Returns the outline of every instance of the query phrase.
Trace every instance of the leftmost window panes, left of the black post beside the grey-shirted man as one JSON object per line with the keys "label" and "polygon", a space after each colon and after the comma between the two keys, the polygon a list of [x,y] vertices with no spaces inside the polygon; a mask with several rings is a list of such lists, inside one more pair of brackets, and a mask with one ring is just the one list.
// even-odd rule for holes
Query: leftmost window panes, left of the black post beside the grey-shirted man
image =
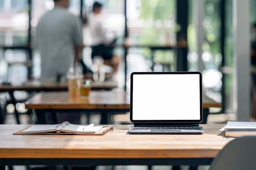
{"label": "leftmost window panes, left of the black post beside the grey-shirted man", "polygon": [[[28,2],[27,0],[0,0],[0,47],[19,47],[28,44]],[[24,50],[1,49],[0,82],[27,81],[27,53]],[[15,72],[18,71],[18,72]]]}

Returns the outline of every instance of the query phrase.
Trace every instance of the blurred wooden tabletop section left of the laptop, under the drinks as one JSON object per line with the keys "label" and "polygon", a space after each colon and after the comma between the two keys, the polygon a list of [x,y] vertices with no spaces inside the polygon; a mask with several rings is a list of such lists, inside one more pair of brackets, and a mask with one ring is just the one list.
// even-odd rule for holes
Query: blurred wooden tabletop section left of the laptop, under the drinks
{"label": "blurred wooden tabletop section left of the laptop, under the drinks", "polygon": [[130,109],[125,92],[90,91],[88,99],[70,97],[68,92],[42,92],[25,102],[27,109]]}

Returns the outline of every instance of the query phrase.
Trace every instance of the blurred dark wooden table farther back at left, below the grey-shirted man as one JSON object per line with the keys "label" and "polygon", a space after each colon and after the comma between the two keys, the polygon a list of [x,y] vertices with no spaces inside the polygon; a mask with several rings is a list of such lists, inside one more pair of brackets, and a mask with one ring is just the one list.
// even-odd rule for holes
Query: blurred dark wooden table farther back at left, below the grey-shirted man
{"label": "blurred dark wooden table farther back at left, below the grey-shirted man", "polygon": [[[112,90],[117,87],[117,82],[115,81],[105,81],[105,82],[92,82],[92,90]],[[39,91],[67,91],[67,83],[56,84],[54,82],[46,82],[44,84],[22,84],[22,85],[11,85],[11,84],[0,84],[0,92],[9,92],[11,95],[11,103],[16,104],[16,99],[13,95],[14,91],[28,91],[39,92]],[[15,109],[16,121],[20,124],[18,119],[18,111]],[[0,109],[0,124],[3,124],[4,114],[1,113]]]}

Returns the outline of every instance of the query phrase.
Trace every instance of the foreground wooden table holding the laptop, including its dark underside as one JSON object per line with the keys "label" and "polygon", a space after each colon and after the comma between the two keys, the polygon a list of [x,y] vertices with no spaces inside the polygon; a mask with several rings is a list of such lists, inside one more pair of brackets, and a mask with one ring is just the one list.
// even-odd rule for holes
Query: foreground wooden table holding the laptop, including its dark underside
{"label": "foreground wooden table holding the laptop, including its dark underside", "polygon": [[202,124],[202,135],[127,135],[113,125],[102,136],[12,135],[28,125],[0,125],[0,170],[12,165],[209,165],[234,138],[223,124]]}

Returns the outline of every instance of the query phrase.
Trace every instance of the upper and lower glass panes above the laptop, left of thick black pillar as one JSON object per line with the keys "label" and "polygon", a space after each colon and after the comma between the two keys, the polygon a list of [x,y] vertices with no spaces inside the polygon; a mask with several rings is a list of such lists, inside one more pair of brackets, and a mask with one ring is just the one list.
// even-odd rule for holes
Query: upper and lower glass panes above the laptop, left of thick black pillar
{"label": "upper and lower glass panes above the laptop, left of thick black pillar", "polygon": [[[127,3],[128,61],[132,71],[174,71],[177,25],[176,0],[129,0]],[[140,59],[141,58],[141,59]],[[142,60],[141,62],[139,62]],[[134,64],[130,64],[134,65]]]}

